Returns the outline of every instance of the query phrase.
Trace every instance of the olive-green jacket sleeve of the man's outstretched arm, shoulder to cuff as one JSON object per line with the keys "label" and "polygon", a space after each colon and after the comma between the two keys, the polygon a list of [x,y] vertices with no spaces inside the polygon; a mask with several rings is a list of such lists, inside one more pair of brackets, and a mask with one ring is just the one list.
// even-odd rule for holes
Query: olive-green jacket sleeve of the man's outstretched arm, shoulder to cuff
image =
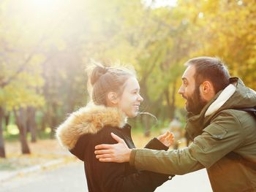
{"label": "olive-green jacket sleeve of the man's outstretched arm, shoulder to cuff", "polygon": [[239,120],[226,110],[219,112],[189,147],[169,151],[133,149],[129,163],[151,172],[186,174],[210,167],[243,140]]}

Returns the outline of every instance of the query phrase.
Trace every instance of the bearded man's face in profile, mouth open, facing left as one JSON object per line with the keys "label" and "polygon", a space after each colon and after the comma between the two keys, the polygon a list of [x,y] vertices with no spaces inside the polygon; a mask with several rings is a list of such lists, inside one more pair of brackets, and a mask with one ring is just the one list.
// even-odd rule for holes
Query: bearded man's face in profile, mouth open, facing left
{"label": "bearded man's face in profile, mouth open, facing left", "polygon": [[182,85],[178,93],[186,99],[185,107],[187,112],[194,115],[200,113],[207,101],[200,95],[200,85],[195,84],[195,66],[189,65],[182,76]]}

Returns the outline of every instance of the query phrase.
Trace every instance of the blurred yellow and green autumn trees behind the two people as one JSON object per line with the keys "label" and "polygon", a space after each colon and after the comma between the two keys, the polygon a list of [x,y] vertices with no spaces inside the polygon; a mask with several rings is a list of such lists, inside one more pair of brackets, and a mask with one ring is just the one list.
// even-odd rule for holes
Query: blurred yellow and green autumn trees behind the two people
{"label": "blurred yellow and green autumn trees behind the two people", "polygon": [[[0,2],[0,156],[4,140],[54,138],[69,112],[86,105],[86,64],[130,64],[142,111],[165,126],[183,118],[177,91],[184,62],[222,58],[256,89],[255,1],[3,0]],[[142,122],[142,124],[141,124]],[[154,120],[132,120],[149,135]]]}

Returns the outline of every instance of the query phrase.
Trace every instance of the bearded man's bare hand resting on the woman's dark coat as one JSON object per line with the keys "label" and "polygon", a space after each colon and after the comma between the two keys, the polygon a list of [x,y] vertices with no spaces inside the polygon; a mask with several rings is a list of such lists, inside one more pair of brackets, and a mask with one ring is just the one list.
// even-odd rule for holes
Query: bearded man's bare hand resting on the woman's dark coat
{"label": "bearded man's bare hand resting on the woman's dark coat", "polygon": [[96,150],[94,151],[94,153],[96,154],[96,158],[98,158],[99,161],[102,162],[129,162],[129,155],[131,153],[131,149],[129,149],[124,140],[118,137],[116,134],[111,133],[111,136],[118,143],[113,145],[102,144],[95,146]]}

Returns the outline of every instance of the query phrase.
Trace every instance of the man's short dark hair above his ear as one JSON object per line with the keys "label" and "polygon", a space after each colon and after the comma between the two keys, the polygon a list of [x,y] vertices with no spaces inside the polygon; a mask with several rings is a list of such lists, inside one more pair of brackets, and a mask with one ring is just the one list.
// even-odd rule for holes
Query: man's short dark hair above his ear
{"label": "man's short dark hair above his ear", "polygon": [[230,74],[227,66],[219,58],[192,58],[185,65],[195,66],[195,85],[199,86],[204,81],[209,80],[214,86],[215,93],[218,93],[230,83]]}

